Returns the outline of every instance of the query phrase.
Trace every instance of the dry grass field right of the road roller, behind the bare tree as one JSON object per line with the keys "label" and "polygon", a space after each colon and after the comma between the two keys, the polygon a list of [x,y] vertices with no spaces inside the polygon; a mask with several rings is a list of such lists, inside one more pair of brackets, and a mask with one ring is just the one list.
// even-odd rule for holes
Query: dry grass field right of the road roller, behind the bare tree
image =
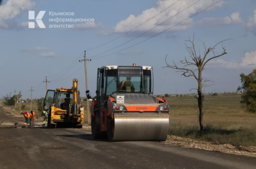
{"label": "dry grass field right of the road roller, behind the bare tree", "polygon": [[219,144],[256,146],[256,115],[245,114],[241,95],[206,96],[206,110],[200,132],[197,100],[193,97],[167,97],[170,104],[170,134]]}

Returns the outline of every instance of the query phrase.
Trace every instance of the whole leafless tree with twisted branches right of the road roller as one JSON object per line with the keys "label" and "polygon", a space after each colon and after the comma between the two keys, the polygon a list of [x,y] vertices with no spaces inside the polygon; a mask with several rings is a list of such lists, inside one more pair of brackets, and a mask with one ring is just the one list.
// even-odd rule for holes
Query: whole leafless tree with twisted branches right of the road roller
{"label": "whole leafless tree with twisted branches right of the road roller", "polygon": [[[169,65],[166,61],[167,55],[165,57],[165,63],[166,63],[167,66],[165,66],[164,68],[178,69],[176,72],[182,72],[182,75],[185,76],[185,77],[193,76],[198,82],[198,87],[196,89],[197,90],[197,95],[194,95],[194,97],[198,101],[198,108],[199,108],[198,121],[199,121],[199,124],[200,124],[200,130],[204,130],[204,126],[203,126],[204,94],[203,94],[202,88],[209,86],[209,85],[206,84],[206,82],[213,82],[211,80],[207,80],[207,79],[202,78],[202,71],[204,70],[206,63],[209,62],[211,59],[218,58],[220,56],[223,56],[223,55],[227,54],[226,49],[225,49],[226,46],[223,46],[223,42],[227,41],[227,40],[229,40],[229,39],[225,39],[223,41],[218,42],[212,48],[211,47],[206,48],[205,43],[202,42],[205,51],[204,51],[203,57],[201,57],[199,47],[198,47],[199,56],[197,54],[196,46],[195,46],[195,43],[194,43],[194,35],[193,35],[193,40],[192,41],[190,40],[190,37],[189,37],[188,40],[186,40],[186,42],[188,42],[191,46],[188,46],[186,44],[186,50],[190,54],[190,58],[192,59],[192,61],[188,61],[187,58],[185,57],[185,60],[180,61],[184,65],[182,68],[178,68],[174,61],[173,61],[173,64],[174,64],[173,66]],[[215,52],[214,52],[214,49],[219,44],[221,44],[223,52],[219,55],[216,55]],[[206,57],[210,52],[213,53],[213,56],[211,58],[207,59]],[[192,66],[194,66],[195,69],[191,68]],[[196,73],[198,73],[198,75],[196,75]]]}

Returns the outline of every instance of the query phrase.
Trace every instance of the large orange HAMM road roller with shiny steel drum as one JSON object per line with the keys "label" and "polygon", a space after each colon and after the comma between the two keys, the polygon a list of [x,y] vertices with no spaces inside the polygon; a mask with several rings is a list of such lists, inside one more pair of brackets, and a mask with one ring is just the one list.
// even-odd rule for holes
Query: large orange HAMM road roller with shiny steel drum
{"label": "large orange HAMM road roller with shiny steel drum", "polygon": [[[153,95],[151,66],[98,68],[96,98],[91,104],[93,139],[109,141],[165,141],[170,106]],[[91,93],[86,91],[87,99]]]}

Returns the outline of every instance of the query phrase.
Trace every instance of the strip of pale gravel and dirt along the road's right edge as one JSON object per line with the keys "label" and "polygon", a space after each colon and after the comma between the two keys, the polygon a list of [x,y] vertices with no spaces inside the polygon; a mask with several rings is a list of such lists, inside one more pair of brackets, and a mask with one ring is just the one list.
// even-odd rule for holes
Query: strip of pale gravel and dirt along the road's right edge
{"label": "strip of pale gravel and dirt along the road's right edge", "polygon": [[213,142],[197,141],[190,138],[182,138],[174,135],[168,135],[167,140],[163,142],[163,144],[256,157],[255,146],[245,147],[233,146],[230,144],[217,144]]}

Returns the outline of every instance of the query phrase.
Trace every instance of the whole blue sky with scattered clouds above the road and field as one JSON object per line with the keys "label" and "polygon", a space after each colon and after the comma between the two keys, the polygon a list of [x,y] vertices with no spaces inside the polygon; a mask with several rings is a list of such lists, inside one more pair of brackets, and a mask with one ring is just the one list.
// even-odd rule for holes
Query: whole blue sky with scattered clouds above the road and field
{"label": "whole blue sky with scattered clouds above the road and field", "polygon": [[[0,6],[0,96],[22,90],[22,99],[30,98],[29,90],[33,86],[33,98],[45,96],[45,76],[50,80],[48,89],[71,87],[72,79],[79,80],[81,95],[85,96],[85,72],[81,68],[83,51],[104,44],[121,34],[144,23],[160,13],[177,0],[3,0]],[[201,0],[187,10],[173,17],[152,31],[134,39],[104,56],[131,45],[137,44],[197,13],[218,0]],[[99,48],[86,52],[92,57],[123,44],[148,31],[196,0],[180,0],[154,19]],[[46,28],[28,28],[28,11],[46,11],[42,18]],[[73,16],[51,16],[53,12],[74,12]],[[36,17],[36,16],[35,16]],[[49,28],[49,18],[94,18],[94,22],[68,22],[74,28]],[[35,21],[35,20],[34,20]],[[214,82],[205,92],[235,92],[240,85],[239,74],[249,73],[256,66],[256,2],[253,0],[223,0],[209,10],[179,24],[141,44],[122,52],[88,62],[88,87],[95,95],[96,71],[106,65],[137,65],[154,68],[154,94],[191,93],[197,86],[193,77],[181,76],[174,69],[162,68],[165,55],[171,64],[179,64],[185,56],[185,40],[195,33],[196,45],[203,53],[200,41],[210,47],[224,42],[227,55],[209,62],[203,71],[203,77]],[[222,53],[221,46],[216,54]],[[96,56],[94,58],[97,58]],[[212,55],[209,55],[210,57]],[[78,58],[78,59],[77,59]],[[71,63],[75,62],[70,66]],[[68,67],[69,66],[69,67]],[[71,68],[71,69],[70,69]],[[81,68],[81,69],[79,69]],[[69,70],[70,69],[70,70]],[[78,70],[79,69],[79,70]],[[69,70],[69,71],[68,71]],[[66,73],[65,73],[66,72]],[[76,73],[74,73],[76,72]],[[57,75],[56,75],[57,74]],[[54,76],[55,75],[55,76]],[[54,82],[55,81],[55,82]],[[195,92],[195,91],[194,91]],[[194,93],[193,92],[193,93]]]}

